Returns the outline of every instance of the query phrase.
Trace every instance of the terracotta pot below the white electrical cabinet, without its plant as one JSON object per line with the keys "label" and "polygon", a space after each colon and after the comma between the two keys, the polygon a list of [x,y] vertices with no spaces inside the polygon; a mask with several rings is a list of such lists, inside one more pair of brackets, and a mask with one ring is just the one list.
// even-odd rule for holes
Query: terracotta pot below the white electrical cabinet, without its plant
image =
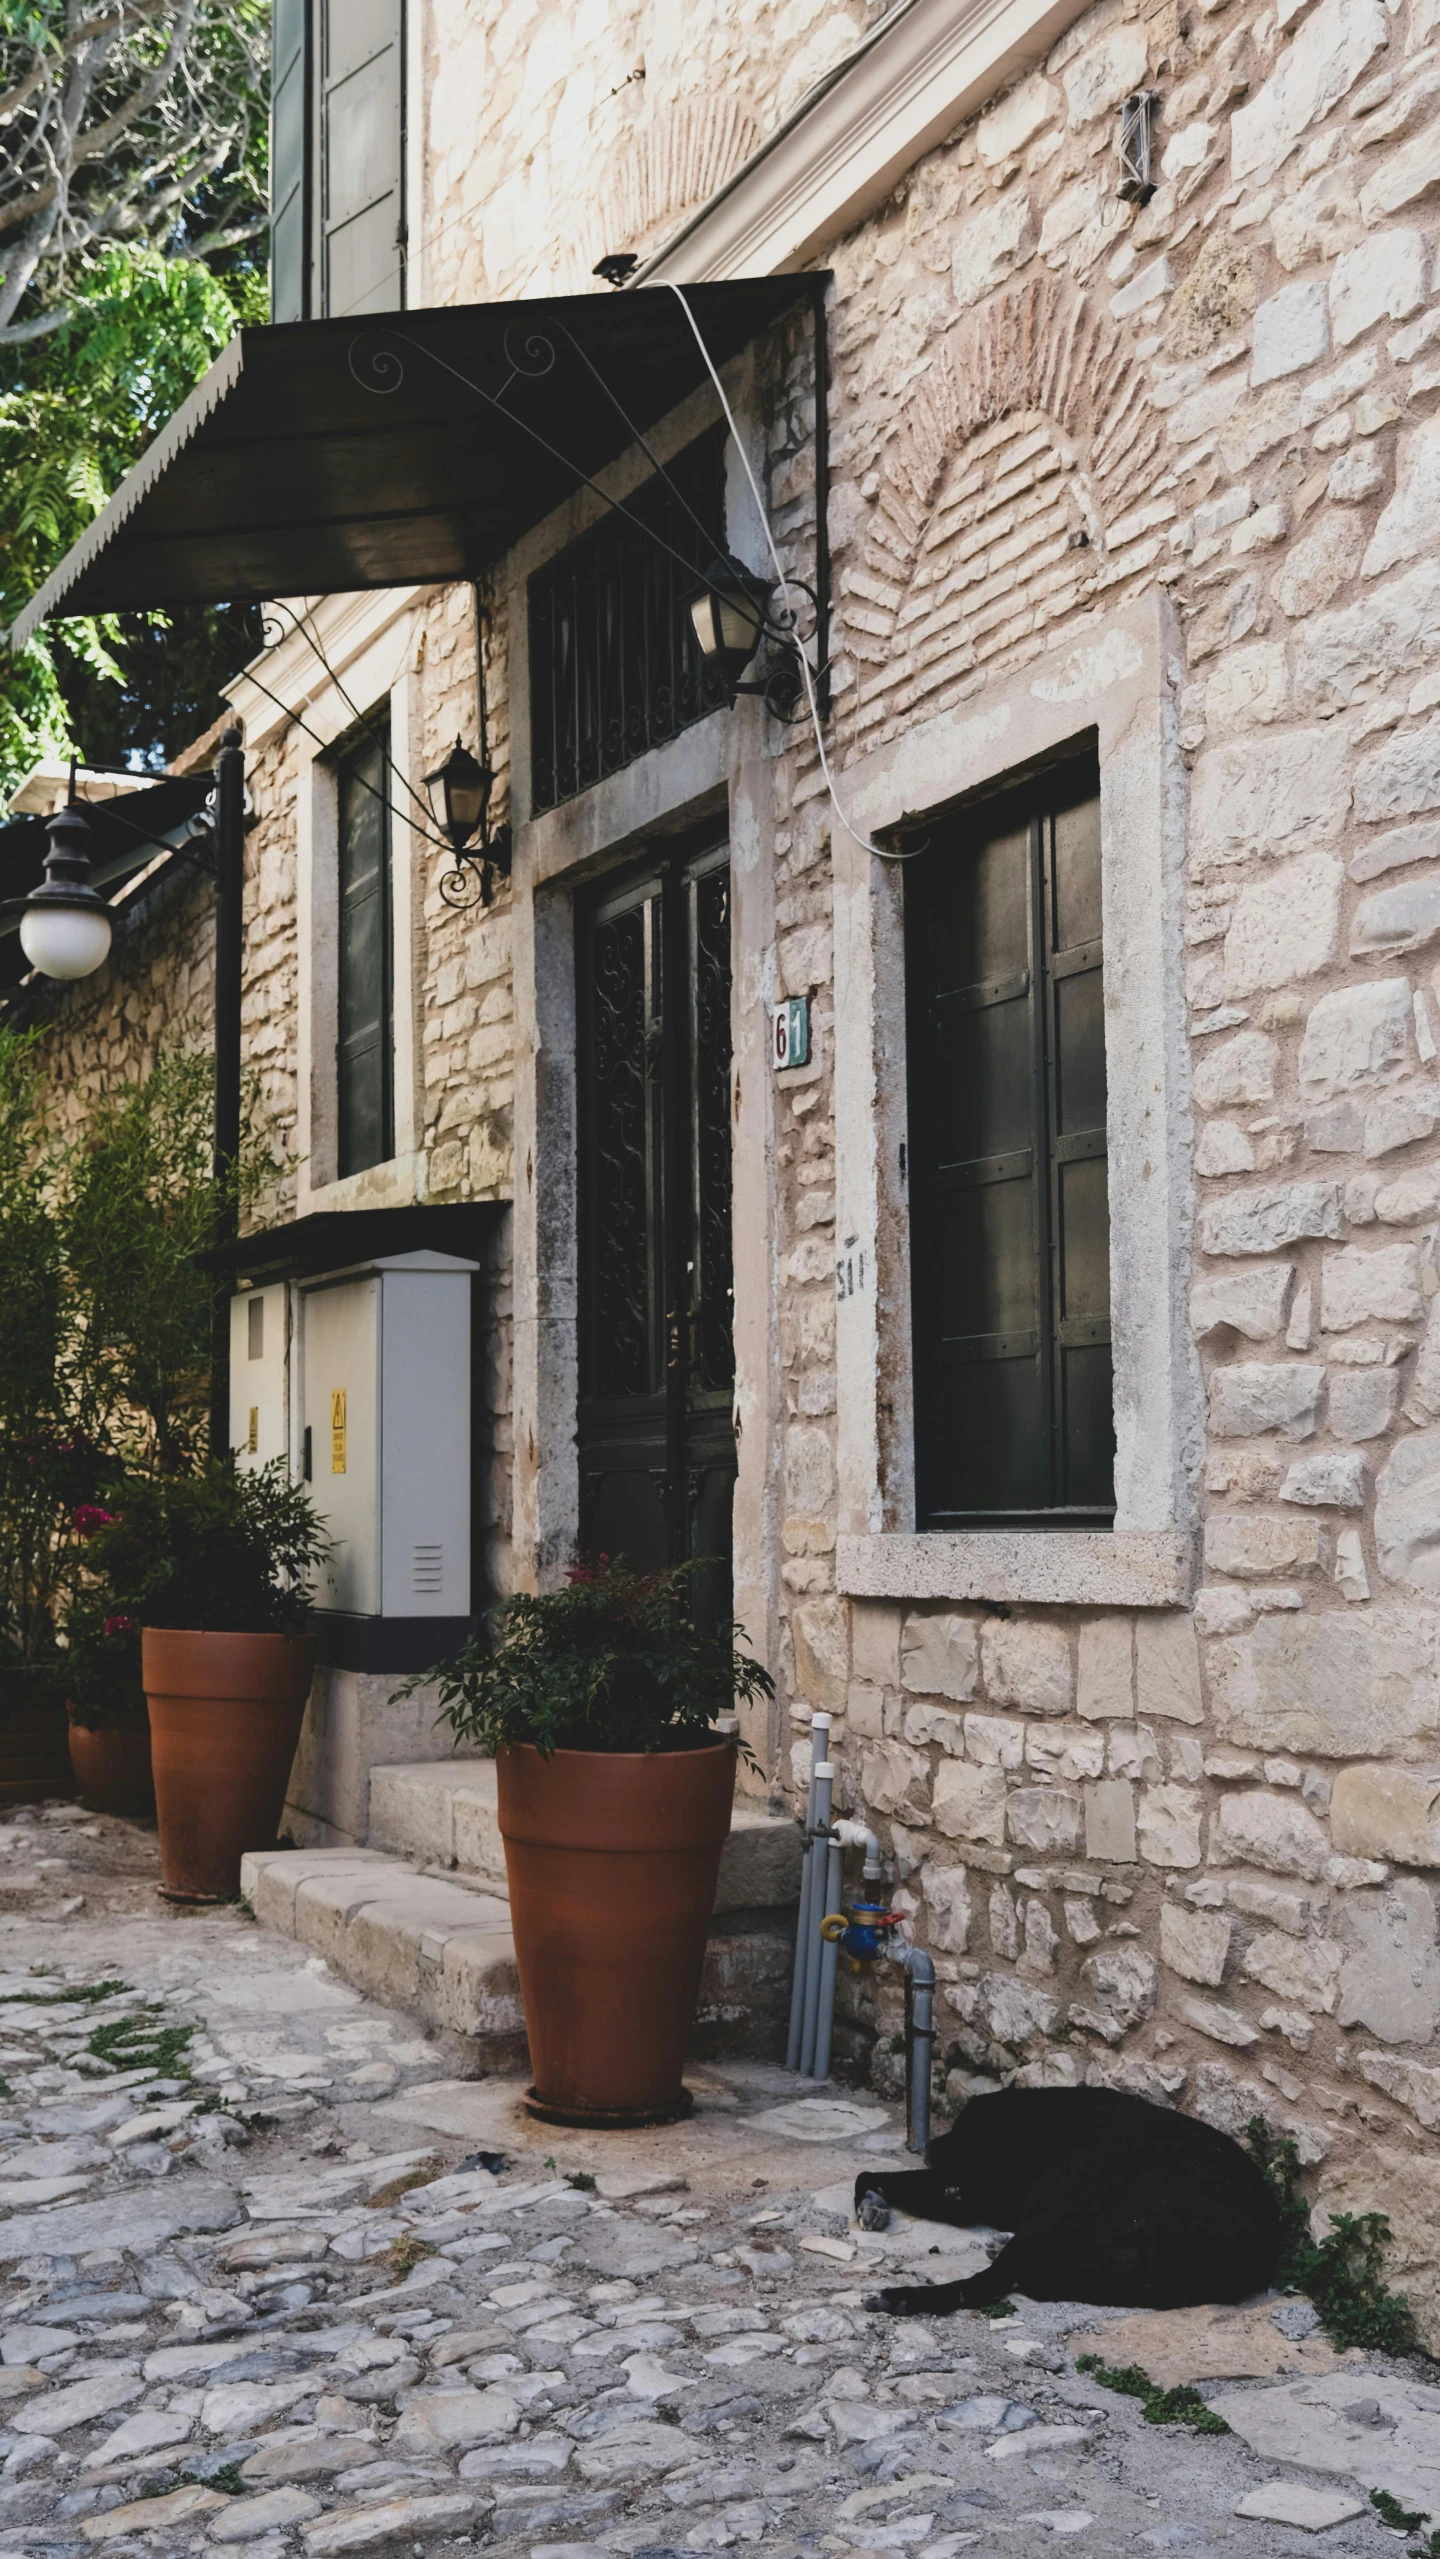
{"label": "terracotta pot below the white electrical cabinet, without its plant", "polygon": [[233,1901],[248,1848],[274,1848],[315,1671],[309,1635],[141,1630],[169,1901]]}

